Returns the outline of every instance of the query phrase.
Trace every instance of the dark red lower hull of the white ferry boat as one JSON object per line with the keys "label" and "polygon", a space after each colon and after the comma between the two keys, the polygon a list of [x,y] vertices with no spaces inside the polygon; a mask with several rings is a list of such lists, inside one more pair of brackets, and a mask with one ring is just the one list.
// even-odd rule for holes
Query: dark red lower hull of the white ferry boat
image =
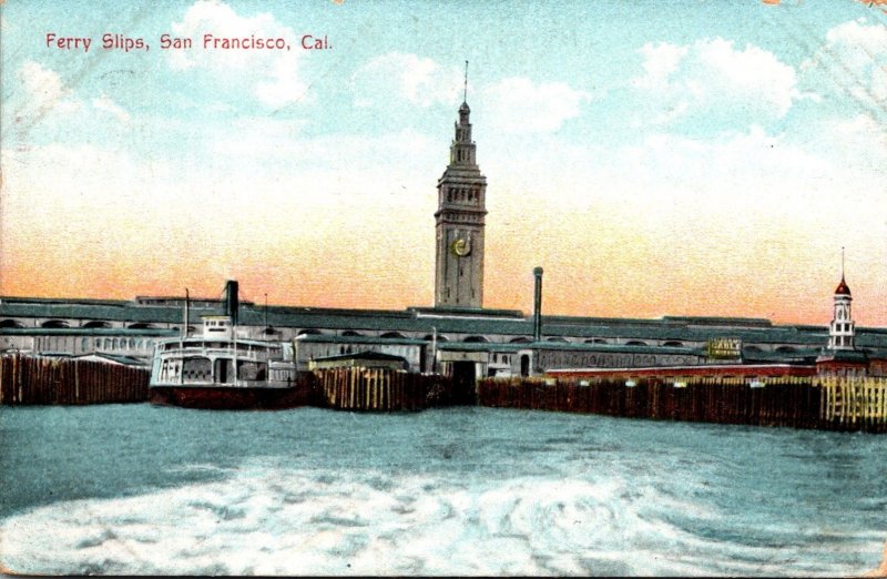
{"label": "dark red lower hull of the white ferry boat", "polygon": [[213,410],[277,410],[312,403],[308,385],[283,388],[235,388],[231,386],[152,386],[149,402],[183,408]]}

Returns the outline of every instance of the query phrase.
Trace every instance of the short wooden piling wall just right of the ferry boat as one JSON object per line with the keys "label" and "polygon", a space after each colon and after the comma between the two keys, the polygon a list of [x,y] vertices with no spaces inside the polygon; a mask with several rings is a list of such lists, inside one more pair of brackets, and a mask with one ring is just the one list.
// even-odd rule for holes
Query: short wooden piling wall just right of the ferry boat
{"label": "short wooden piling wall just right of the ferry boat", "polygon": [[452,380],[443,376],[359,367],[315,370],[314,375],[320,388],[320,404],[328,408],[421,410],[453,402]]}

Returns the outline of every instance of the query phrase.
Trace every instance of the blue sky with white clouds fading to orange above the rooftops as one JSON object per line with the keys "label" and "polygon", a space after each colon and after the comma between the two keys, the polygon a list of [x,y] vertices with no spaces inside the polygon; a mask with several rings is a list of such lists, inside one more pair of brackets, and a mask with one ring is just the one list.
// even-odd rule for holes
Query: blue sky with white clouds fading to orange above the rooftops
{"label": "blue sky with white clouds fading to orange above the rooftops", "polygon": [[887,326],[881,4],[7,0],[0,295],[431,305],[468,60],[486,307]]}

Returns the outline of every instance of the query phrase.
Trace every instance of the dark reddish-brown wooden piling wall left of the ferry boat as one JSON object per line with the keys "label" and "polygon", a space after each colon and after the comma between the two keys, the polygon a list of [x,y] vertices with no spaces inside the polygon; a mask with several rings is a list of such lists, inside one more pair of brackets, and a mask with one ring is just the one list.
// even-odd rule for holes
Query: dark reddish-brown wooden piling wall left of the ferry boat
{"label": "dark reddish-brown wooden piling wall left of the ferry boat", "polygon": [[0,404],[79,405],[147,400],[150,372],[118,364],[0,356]]}

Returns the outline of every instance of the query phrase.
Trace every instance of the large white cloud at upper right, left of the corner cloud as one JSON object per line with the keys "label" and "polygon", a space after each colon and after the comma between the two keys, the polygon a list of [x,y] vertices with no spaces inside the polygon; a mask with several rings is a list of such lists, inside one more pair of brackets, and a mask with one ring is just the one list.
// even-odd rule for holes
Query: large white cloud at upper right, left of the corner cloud
{"label": "large white cloud at upper right, left of the corner cloud", "polygon": [[684,47],[646,43],[639,52],[644,74],[631,82],[643,102],[638,124],[744,131],[785,116],[801,96],[795,70],[752,44],[740,50],[715,38]]}

